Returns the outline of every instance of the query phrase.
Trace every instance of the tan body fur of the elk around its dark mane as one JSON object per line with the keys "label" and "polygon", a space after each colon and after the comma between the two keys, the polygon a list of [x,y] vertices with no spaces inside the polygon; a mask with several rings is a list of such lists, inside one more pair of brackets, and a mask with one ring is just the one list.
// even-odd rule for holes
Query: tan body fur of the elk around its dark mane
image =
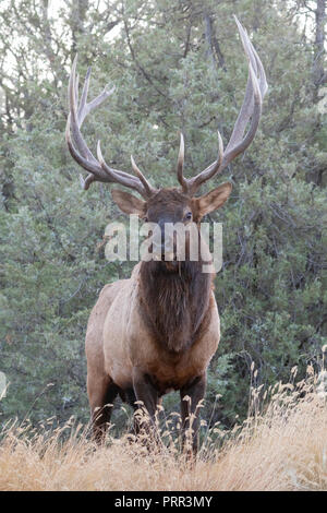
{"label": "tan body fur of the elk around its dark mane", "polygon": [[180,390],[206,372],[218,347],[220,324],[214,293],[209,324],[186,350],[171,354],[149,335],[140,313],[141,265],[134,267],[130,279],[106,285],[90,313],[85,345],[92,409],[104,405],[101,383],[106,386],[112,381],[121,390],[133,387],[135,368],[152,377],[160,395]]}

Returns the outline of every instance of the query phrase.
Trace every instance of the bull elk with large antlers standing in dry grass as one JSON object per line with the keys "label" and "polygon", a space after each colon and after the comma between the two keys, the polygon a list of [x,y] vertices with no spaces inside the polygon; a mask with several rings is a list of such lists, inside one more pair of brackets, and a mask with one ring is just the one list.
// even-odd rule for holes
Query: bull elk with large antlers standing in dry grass
{"label": "bull elk with large antlers standing in dry grass", "polygon": [[[113,169],[104,159],[100,142],[97,144],[97,158],[93,155],[81,127],[88,112],[110,96],[112,90],[105,88],[87,103],[88,69],[78,102],[75,58],[69,82],[70,114],[65,139],[73,158],[88,171],[86,179],[82,179],[85,190],[93,181],[119,183],[135,190],[142,199],[121,190],[112,190],[112,199],[122,212],[157,223],[162,230],[166,223],[177,222],[184,225],[193,222],[199,227],[204,215],[227,201],[232,189],[229,182],[204,195],[195,193],[251,144],[267,91],[261,59],[246,31],[238,19],[235,22],[249,60],[243,105],[226,150],[218,132],[217,159],[192,178],[183,175],[184,139],[181,134],[177,167],[179,189],[154,188],[132,156],[134,176]],[[244,133],[249,122],[250,128]],[[134,410],[142,402],[149,418],[154,419],[160,397],[170,390],[178,390],[183,432],[190,428],[192,417],[192,443],[196,450],[197,407],[205,395],[207,368],[220,338],[213,291],[215,274],[203,273],[201,264],[201,260],[196,262],[187,258],[179,263],[166,261],[160,254],[156,261],[138,262],[129,279],[102,288],[86,333],[87,392],[96,437],[105,432],[118,394]]]}

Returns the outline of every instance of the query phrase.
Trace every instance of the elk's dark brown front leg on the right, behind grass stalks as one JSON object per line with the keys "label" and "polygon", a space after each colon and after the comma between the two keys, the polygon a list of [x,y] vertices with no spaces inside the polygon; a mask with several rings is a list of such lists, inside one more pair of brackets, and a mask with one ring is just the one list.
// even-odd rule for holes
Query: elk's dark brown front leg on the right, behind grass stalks
{"label": "elk's dark brown front leg on the right, behind grass stalks", "polygon": [[[195,378],[180,390],[183,446],[185,448],[186,442],[190,440],[194,453],[196,453],[198,446],[199,402],[204,398],[205,391],[206,374]],[[186,451],[189,452],[191,448],[186,448]]]}

